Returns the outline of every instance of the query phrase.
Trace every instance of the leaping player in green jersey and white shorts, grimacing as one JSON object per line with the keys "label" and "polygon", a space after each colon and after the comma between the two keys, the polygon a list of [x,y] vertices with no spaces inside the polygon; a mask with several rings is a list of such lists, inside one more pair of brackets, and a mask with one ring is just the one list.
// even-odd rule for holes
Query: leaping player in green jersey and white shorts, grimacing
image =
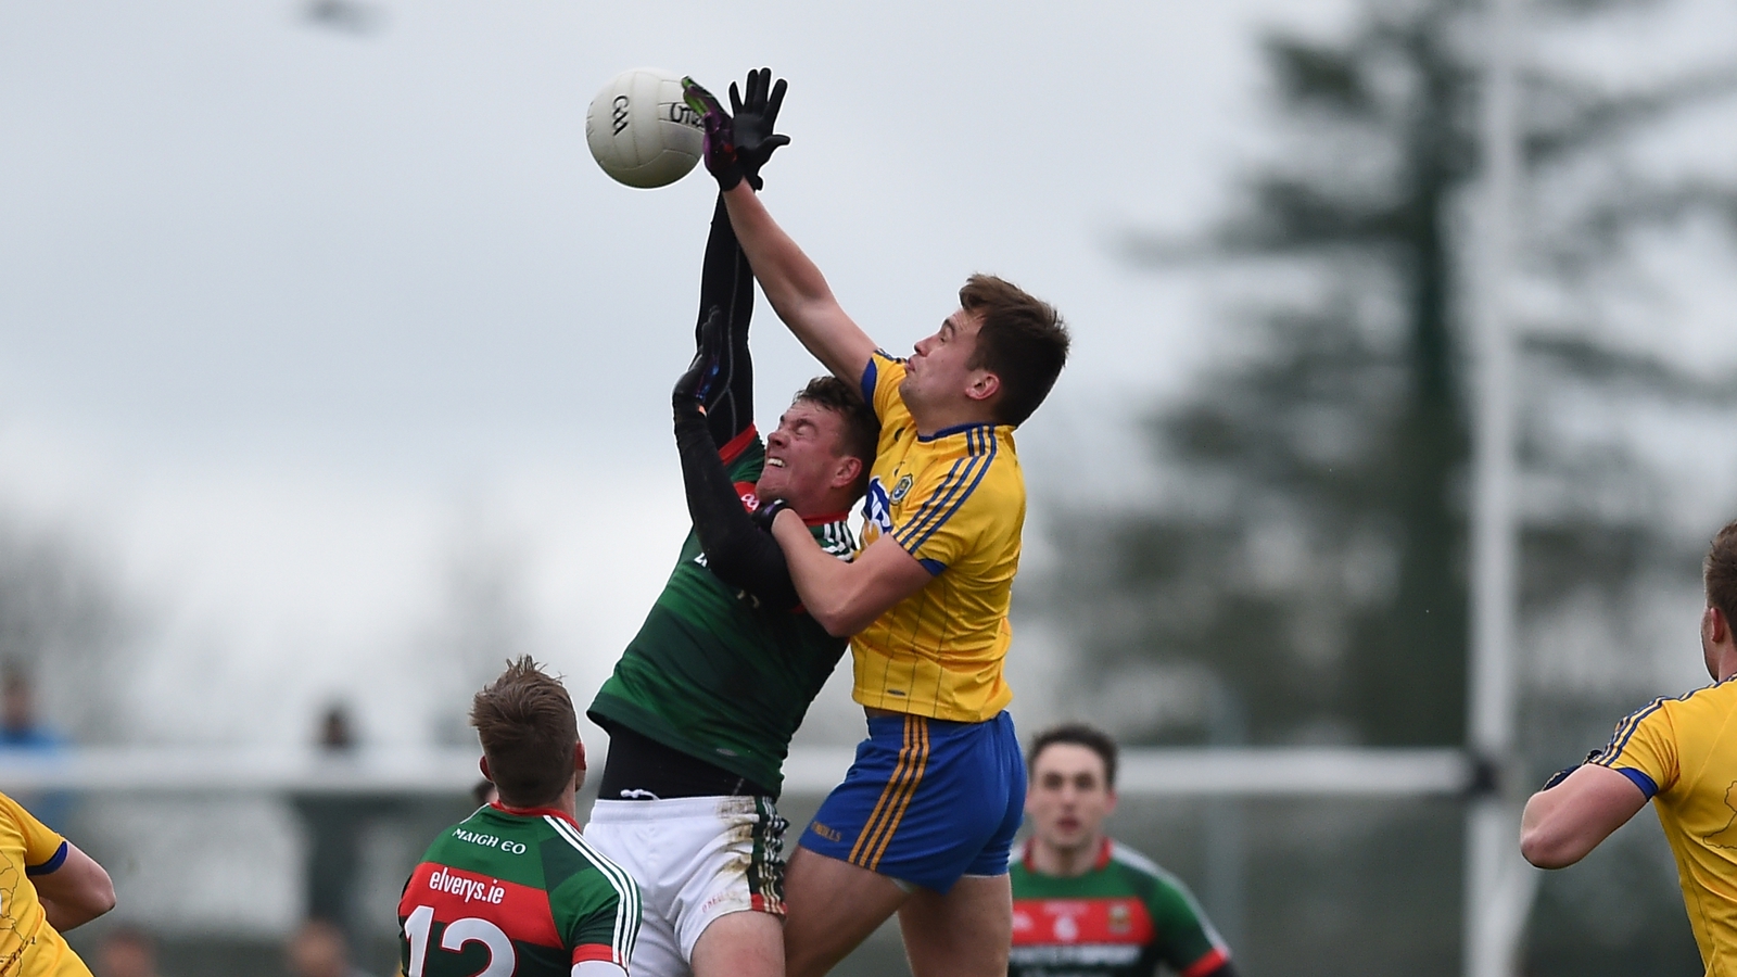
{"label": "leaping player in green jersey and white shorts, grimacing", "polygon": [[[736,113],[766,134],[783,96],[769,82],[749,75]],[[874,417],[849,384],[822,377],[761,443],[752,309],[754,276],[719,200],[698,351],[674,391],[693,530],[587,713],[610,732],[587,838],[644,894],[636,975],[783,975],[785,821],[773,805],[790,735],[844,655],[844,638],[802,612],[783,551],[750,513],[757,499],[782,499],[829,560],[848,558]]]}

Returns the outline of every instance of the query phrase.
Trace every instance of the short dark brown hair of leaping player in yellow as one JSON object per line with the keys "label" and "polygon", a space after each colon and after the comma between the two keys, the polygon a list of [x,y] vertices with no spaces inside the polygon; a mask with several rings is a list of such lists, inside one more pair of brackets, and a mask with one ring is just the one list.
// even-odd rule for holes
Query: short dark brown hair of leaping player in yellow
{"label": "short dark brown hair of leaping player in yellow", "polygon": [[959,306],[983,316],[976,351],[966,363],[1001,379],[995,421],[1023,424],[1056,386],[1068,362],[1068,327],[1049,302],[994,275],[973,275]]}

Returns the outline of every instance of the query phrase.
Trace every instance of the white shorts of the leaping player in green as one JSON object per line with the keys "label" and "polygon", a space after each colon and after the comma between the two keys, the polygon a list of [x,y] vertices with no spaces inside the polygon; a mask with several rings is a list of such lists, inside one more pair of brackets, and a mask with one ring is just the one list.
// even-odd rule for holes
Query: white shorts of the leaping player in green
{"label": "white shorts of the leaping player in green", "polygon": [[719,916],[783,916],[785,824],[768,798],[592,805],[585,840],[639,883],[634,977],[693,974],[693,944]]}

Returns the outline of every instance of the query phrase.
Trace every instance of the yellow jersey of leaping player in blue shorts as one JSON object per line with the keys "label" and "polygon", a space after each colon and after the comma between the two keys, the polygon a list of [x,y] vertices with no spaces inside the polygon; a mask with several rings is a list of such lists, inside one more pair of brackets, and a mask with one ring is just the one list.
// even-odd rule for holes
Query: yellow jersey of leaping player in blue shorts
{"label": "yellow jersey of leaping player in blue shorts", "polygon": [[935,575],[851,638],[863,706],[983,721],[1013,701],[1002,659],[1020,568],[1025,476],[1007,424],[919,436],[898,393],[903,360],[875,351],[863,396],[881,442],[863,499],[862,544],[891,535]]}

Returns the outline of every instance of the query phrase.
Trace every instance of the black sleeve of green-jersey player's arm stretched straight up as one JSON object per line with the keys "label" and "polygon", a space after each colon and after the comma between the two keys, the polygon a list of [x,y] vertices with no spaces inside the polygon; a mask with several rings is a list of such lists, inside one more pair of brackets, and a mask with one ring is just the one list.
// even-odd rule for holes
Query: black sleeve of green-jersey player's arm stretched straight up
{"label": "black sleeve of green-jersey player's arm stretched straight up", "polygon": [[705,421],[712,440],[719,445],[745,431],[754,422],[754,358],[749,356],[749,320],[754,316],[754,269],[736,243],[730,224],[724,196],[717,195],[712,210],[712,233],[705,238],[705,264],[700,269],[700,318],[695,322],[695,344],[700,327],[710,309],[724,313],[726,344],[721,370],[723,384],[707,398]]}

